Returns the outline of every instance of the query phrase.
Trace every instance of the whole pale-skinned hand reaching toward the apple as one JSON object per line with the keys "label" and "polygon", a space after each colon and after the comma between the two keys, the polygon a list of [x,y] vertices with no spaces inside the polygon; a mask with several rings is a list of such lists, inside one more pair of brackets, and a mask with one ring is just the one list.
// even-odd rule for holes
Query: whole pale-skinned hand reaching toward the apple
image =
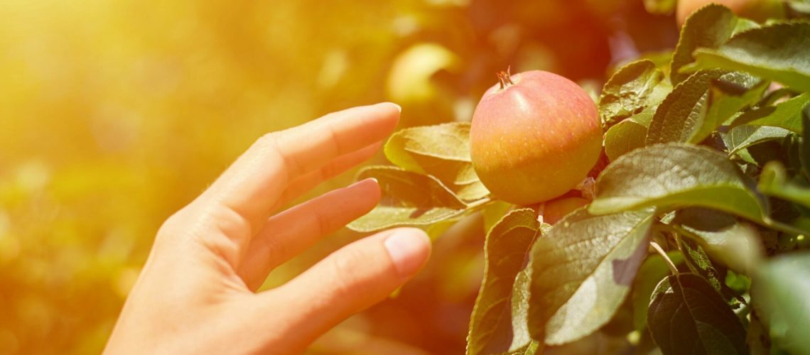
{"label": "whole pale-skinned hand reaching toward the apple", "polygon": [[273,268],[377,205],[377,182],[364,180],[278,212],[375,154],[399,111],[350,108],[255,142],[161,226],[104,353],[301,353],[418,273],[429,239],[399,228],[257,292]]}

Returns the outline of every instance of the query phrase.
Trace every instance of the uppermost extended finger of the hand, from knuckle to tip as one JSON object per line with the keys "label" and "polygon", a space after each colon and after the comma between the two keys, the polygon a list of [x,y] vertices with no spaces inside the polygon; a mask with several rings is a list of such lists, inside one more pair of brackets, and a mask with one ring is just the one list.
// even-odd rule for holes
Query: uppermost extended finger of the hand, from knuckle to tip
{"label": "uppermost extended finger of the hand, from knuckle to tip", "polygon": [[399,106],[390,103],[361,106],[266,134],[211,185],[206,192],[210,202],[232,210],[256,230],[289,182],[382,141],[397,125],[399,112]]}

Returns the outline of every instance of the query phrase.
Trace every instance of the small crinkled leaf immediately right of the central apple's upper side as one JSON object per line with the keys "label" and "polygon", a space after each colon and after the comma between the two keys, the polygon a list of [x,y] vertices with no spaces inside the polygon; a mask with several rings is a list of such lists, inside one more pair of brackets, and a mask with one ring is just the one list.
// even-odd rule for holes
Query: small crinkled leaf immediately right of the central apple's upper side
{"label": "small crinkled leaf immediately right of the central apple's upper side", "polygon": [[622,66],[605,83],[599,97],[599,115],[605,126],[616,125],[649,106],[658,106],[671,90],[662,82],[663,72],[652,61],[633,61]]}

